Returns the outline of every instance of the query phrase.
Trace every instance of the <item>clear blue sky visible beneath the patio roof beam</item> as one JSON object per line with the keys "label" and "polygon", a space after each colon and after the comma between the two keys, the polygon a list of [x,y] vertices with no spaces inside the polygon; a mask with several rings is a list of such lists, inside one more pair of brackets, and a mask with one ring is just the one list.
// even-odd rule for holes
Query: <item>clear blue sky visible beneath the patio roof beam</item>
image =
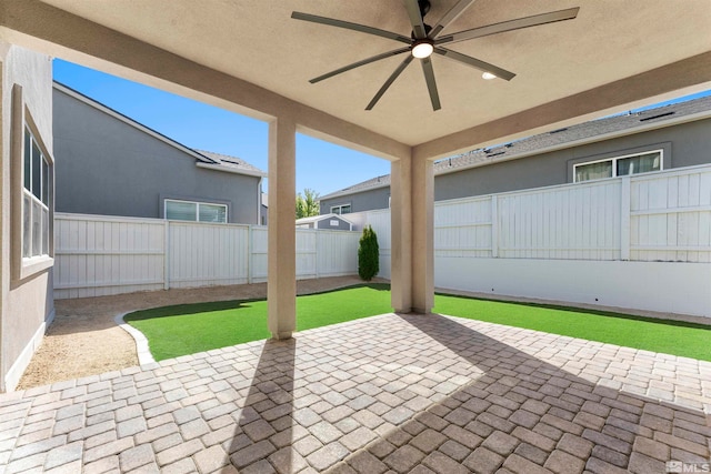
{"label": "clear blue sky visible beneath the patio roof beam", "polygon": [[[53,70],[54,80],[166,137],[192,149],[239,157],[267,171],[266,122],[59,59]],[[380,158],[297,137],[298,192],[310,188],[326,195],[389,173],[390,162]]]}

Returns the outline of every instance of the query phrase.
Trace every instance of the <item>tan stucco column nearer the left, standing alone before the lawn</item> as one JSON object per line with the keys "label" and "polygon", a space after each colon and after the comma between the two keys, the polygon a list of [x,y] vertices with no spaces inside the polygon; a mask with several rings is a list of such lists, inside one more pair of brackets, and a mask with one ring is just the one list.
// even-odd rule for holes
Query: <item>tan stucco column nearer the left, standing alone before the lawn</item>
{"label": "tan stucco column nearer the left, standing alone before the lawn", "polygon": [[297,128],[277,119],[269,124],[269,331],[289,339],[297,326]]}

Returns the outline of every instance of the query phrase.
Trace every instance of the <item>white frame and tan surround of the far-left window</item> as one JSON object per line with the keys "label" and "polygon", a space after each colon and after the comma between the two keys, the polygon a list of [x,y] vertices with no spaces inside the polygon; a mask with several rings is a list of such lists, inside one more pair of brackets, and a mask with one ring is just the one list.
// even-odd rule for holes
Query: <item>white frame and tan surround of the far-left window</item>
{"label": "white frame and tan surround of the far-left window", "polygon": [[[12,127],[10,132],[10,153],[11,153],[11,241],[12,241],[12,259],[11,259],[11,278],[12,280],[24,280],[39,272],[46,271],[54,265],[54,160],[48,152],[42,137],[38,132],[38,127],[32,119],[30,111],[24,105],[22,97],[22,87],[14,84],[12,88]],[[47,175],[40,177],[40,199],[38,199],[31,190],[24,188],[24,135],[26,130],[31,141],[37,148],[47,163]],[[31,167],[30,167],[31,170]],[[42,167],[40,164],[40,170]],[[46,180],[46,188],[43,181]],[[30,183],[32,183],[30,179]],[[47,192],[47,202],[43,202],[43,193]],[[26,196],[30,199],[30,209],[24,209]],[[47,211],[47,222],[40,218],[40,228],[42,236],[40,238],[41,253],[24,256],[24,242],[29,240],[32,245],[32,225],[30,225],[29,234],[24,232],[24,214],[30,212],[30,221],[32,222],[33,209],[36,204],[40,204],[42,210]],[[43,241],[47,240],[47,252],[44,252]]]}

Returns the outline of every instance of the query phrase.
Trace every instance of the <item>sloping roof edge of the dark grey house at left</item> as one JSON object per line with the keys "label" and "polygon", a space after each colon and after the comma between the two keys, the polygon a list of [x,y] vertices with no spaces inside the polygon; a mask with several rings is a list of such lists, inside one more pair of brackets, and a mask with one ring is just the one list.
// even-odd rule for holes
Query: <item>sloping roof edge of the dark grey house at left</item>
{"label": "sloping roof edge of the dark grey house at left", "polygon": [[266,177],[267,173],[261,171],[260,169],[258,169],[257,167],[253,167],[252,164],[249,164],[248,162],[246,162],[244,160],[240,159],[240,158],[236,158],[236,157],[228,157],[226,154],[219,154],[219,153],[212,153],[212,152],[207,152],[207,151],[198,151],[194,149],[191,149],[153,129],[151,129],[150,127],[147,127],[140,122],[137,122],[136,120],[131,119],[130,117],[127,117],[124,114],[122,114],[121,112],[111,109],[110,107],[94,100],[91,99],[88,95],[82,94],[81,92],[62,84],[61,82],[57,82],[53,81],[52,87],[54,90],[64,93],[66,95],[69,95],[76,100],[79,100],[83,103],[86,103],[89,107],[92,107],[108,115],[111,115],[112,118],[120,120],[121,122],[137,129],[140,130],[143,133],[147,133],[151,137],[153,137],[157,140],[162,141],[163,143],[167,143],[180,151],[182,151],[183,153],[187,153],[189,155],[191,155],[192,158],[194,158],[197,160],[197,165],[200,168],[208,168],[208,169],[212,169],[212,170],[218,170],[218,171],[227,171],[227,172],[233,172],[233,173],[239,173],[239,174],[247,174],[247,175],[253,175],[253,177]]}

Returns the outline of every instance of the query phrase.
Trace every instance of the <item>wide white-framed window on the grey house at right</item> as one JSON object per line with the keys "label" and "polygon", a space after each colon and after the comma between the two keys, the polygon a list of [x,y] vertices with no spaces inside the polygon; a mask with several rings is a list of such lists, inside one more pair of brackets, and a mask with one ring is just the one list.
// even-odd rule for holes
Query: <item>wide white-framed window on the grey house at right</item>
{"label": "wide white-framed window on the grey house at right", "polygon": [[663,151],[654,150],[639,154],[608,158],[575,164],[573,175],[575,182],[600,180],[603,178],[625,177],[628,174],[648,173],[663,169]]}

